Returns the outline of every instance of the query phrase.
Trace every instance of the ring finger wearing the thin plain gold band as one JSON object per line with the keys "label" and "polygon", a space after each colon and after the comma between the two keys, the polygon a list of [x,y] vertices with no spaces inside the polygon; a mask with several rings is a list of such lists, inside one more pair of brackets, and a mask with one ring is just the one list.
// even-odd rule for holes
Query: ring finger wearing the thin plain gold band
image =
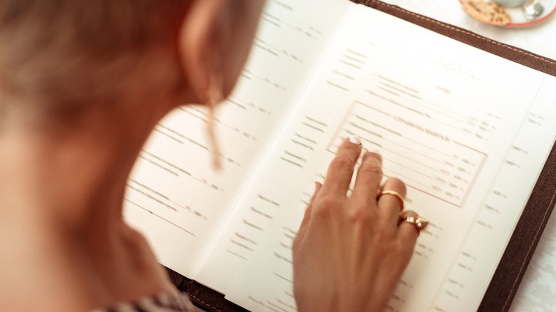
{"label": "ring finger wearing the thin plain gold band", "polygon": [[403,210],[403,202],[406,198],[406,184],[395,177],[384,182],[382,192],[378,196],[377,205],[379,212],[388,220],[396,224],[400,212]]}

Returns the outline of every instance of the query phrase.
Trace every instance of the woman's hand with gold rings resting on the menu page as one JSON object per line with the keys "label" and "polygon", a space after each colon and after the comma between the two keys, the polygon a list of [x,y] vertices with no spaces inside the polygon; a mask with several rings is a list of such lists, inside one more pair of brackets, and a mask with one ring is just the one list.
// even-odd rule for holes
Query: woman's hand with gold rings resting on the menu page
{"label": "woman's hand with gold rings resting on the menu page", "polygon": [[[315,192],[294,239],[294,296],[299,311],[383,311],[418,236],[398,218],[402,202],[380,192],[382,158],[365,152],[347,197],[361,144],[345,140]],[[388,179],[383,189],[406,195]],[[414,212],[404,215],[417,217]]]}

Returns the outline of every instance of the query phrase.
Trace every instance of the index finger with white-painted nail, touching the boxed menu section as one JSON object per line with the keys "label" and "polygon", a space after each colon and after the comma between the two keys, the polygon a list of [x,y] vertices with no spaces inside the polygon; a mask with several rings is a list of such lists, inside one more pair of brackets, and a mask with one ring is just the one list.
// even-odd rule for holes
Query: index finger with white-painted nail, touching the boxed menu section
{"label": "index finger with white-painted nail, touching the boxed menu section", "polygon": [[324,192],[346,196],[359,155],[361,155],[361,140],[358,137],[350,137],[342,142],[326,172]]}

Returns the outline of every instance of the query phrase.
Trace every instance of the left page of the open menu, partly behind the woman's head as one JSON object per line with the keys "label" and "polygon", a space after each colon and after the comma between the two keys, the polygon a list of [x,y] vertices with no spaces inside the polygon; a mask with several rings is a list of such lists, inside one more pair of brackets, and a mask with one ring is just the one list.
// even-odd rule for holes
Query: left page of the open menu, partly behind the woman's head
{"label": "left page of the open menu, partly behind the woman's head", "polygon": [[[341,1],[271,0],[242,77],[217,110],[223,168],[212,168],[207,113],[177,109],[155,129],[125,195],[125,219],[150,241],[161,264],[191,276],[334,36],[326,16]],[[329,2],[329,3],[328,3]],[[299,16],[314,19],[302,20]]]}

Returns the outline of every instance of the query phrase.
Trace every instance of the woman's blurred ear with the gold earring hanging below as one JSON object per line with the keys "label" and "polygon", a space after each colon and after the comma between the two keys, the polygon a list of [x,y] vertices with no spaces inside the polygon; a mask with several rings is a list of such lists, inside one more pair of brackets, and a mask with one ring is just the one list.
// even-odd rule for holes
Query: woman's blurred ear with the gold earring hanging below
{"label": "woman's blurred ear with the gold earring hanging below", "polygon": [[210,88],[211,76],[222,67],[222,1],[190,0],[192,4],[182,18],[177,38],[182,72],[192,95],[202,103]]}

